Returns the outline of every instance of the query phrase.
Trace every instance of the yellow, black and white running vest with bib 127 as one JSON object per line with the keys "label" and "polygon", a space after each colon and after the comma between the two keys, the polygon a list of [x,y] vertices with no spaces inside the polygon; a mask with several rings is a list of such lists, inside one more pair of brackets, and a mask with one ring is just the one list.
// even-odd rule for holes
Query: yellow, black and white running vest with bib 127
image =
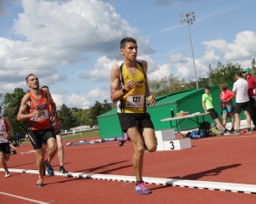
{"label": "yellow, black and white running vest with bib 127", "polygon": [[119,64],[122,86],[125,87],[126,83],[131,79],[136,82],[136,87],[130,89],[124,98],[118,101],[117,111],[119,113],[146,113],[148,111],[145,88],[146,75],[142,61],[137,59],[136,62],[137,73],[135,75],[131,75],[123,62]]}

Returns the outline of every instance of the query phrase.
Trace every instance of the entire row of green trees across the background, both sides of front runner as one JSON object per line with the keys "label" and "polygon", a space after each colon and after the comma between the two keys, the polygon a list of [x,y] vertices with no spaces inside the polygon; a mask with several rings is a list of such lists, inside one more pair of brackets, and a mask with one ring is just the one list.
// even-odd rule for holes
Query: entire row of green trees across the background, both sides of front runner
{"label": "entire row of green trees across the background, both sides of front runner", "polygon": [[[251,63],[251,72],[253,76],[256,75],[255,59]],[[207,85],[218,85],[224,82],[235,82],[236,71],[241,71],[241,65],[233,64],[231,62],[220,63],[212,69],[209,65],[209,72],[207,77],[199,78],[199,88],[204,88]],[[149,80],[148,86],[151,94],[160,96],[165,94],[172,94],[184,90],[195,89],[195,81],[186,82],[185,79],[180,79],[171,74],[169,77],[163,77],[160,80]],[[14,132],[11,137],[15,137],[16,132],[25,135],[27,124],[26,122],[17,122],[16,116],[20,109],[20,101],[26,93],[22,88],[15,88],[13,94],[0,94],[0,105],[2,106],[2,116],[7,116],[11,122]],[[63,129],[70,130],[71,127],[79,126],[96,126],[98,125],[97,116],[116,108],[113,103],[108,103],[107,99],[103,103],[96,101],[89,109],[69,108],[63,104],[58,107],[58,114],[63,125]]]}

